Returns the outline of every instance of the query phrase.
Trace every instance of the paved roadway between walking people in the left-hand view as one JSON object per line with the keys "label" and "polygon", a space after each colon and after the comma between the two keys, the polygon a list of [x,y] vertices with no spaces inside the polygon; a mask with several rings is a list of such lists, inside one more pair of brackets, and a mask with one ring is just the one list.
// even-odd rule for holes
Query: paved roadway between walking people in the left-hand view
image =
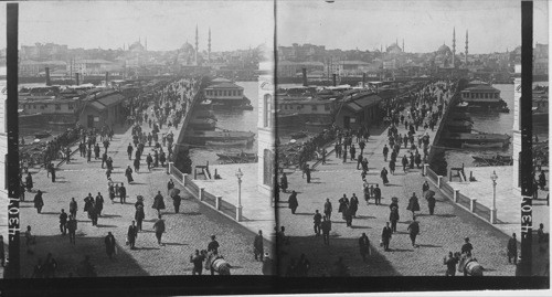
{"label": "paved roadway between walking people in the left-hand view", "polygon": [[[150,130],[147,124],[142,128],[146,131]],[[160,135],[168,130],[163,126]],[[177,131],[173,132],[178,136]],[[131,142],[131,129],[117,127],[108,149],[108,156],[114,159],[112,179],[124,181],[127,188],[126,204],[112,204],[108,199],[107,179],[105,169],[100,167],[100,160],[93,158],[93,161],[87,163],[86,159],[79,157],[77,152],[70,163],[63,163],[59,168],[55,183],[46,178],[45,170],[32,171],[35,188],[33,193],[26,193],[26,201],[21,203],[20,218],[21,229],[31,225],[33,234],[38,237],[38,244],[33,246],[33,254],[28,254],[24,244],[21,245],[21,275],[23,277],[30,277],[36,261],[44,259],[49,252],[59,263],[57,276],[61,277],[74,274],[76,264],[84,258],[84,255],[91,255],[98,276],[189,275],[192,268],[189,255],[195,248],[206,250],[212,234],[216,235],[221,244],[219,251],[234,266],[232,274],[262,273],[261,263],[255,262],[253,257],[253,233],[201,205],[189,195],[184,197],[180,213],[173,213],[172,203],[167,198],[169,176],[164,168],[156,168],[148,172],[147,166],[142,163],[140,172],[134,173],[135,182],[127,185],[124,171],[128,165],[131,166],[126,152],[129,142]],[[149,151],[151,148],[146,147],[145,153]],[[176,184],[178,187],[177,182]],[[32,202],[38,189],[44,192],[42,214],[36,213]],[[163,234],[162,240],[164,246],[157,244],[152,231],[157,211],[151,205],[158,190],[163,194],[167,205],[163,212],[167,224],[167,233]],[[105,200],[104,211],[98,220],[98,226],[92,226],[91,220],[83,212],[83,199],[88,192],[96,197],[98,191]],[[145,197],[146,220],[144,232],[138,234],[136,243],[138,250],[130,251],[128,246],[125,246],[125,238],[128,225],[134,220],[134,203],[138,194]],[[61,209],[68,212],[72,197],[78,203],[76,245],[71,245],[68,235],[62,236],[59,229]],[[107,232],[113,232],[118,241],[118,255],[114,261],[109,261],[105,253],[104,237]],[[24,236],[23,232],[22,236]],[[24,237],[22,243],[24,243]]]}

